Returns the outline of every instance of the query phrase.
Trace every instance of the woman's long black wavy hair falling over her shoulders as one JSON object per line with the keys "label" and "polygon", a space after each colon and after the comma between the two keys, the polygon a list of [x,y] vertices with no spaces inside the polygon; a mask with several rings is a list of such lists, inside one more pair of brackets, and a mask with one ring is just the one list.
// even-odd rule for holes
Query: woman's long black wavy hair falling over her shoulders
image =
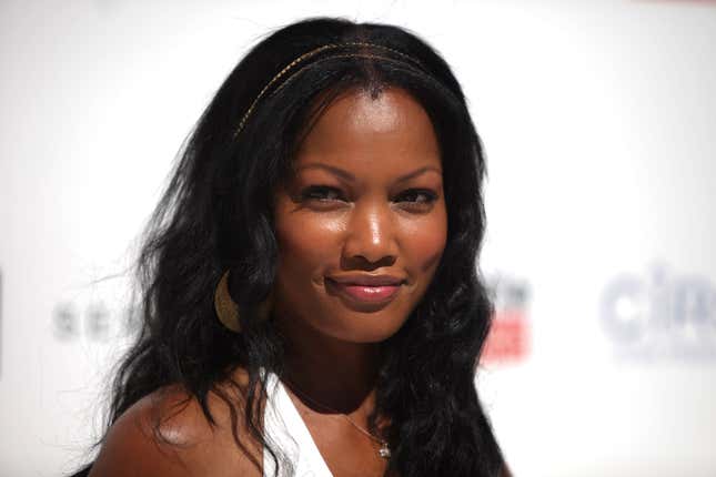
{"label": "woman's long black wavy hair falling over her shoulders", "polygon": [[[325,45],[331,47],[302,57]],[[184,143],[139,255],[142,328],[118,368],[109,425],[143,396],[180,384],[210,423],[208,394],[215,392],[229,405],[234,427],[243,412],[251,434],[268,445],[259,415],[266,397],[261,369],[280,375],[283,363],[280,336],[256,314],[276,271],[271,194],[290,173],[302,134],[322,108],[352,89],[380,94],[382,88],[405,90],[431,118],[448,221],[442,261],[425,296],[381,344],[374,416],[390,416],[386,475],[501,473],[503,456],[475,389],[493,312],[476,268],[485,230],[480,139],[462,89],[438,53],[404,29],[343,19],[303,20],[259,42]],[[225,329],[213,307],[226,270],[242,309],[241,334]],[[249,376],[244,409],[218,386],[231,383],[239,366]],[[371,425],[375,428],[374,420]],[[236,434],[234,440],[245,449]],[[270,448],[270,455],[290,468],[281,449]]]}

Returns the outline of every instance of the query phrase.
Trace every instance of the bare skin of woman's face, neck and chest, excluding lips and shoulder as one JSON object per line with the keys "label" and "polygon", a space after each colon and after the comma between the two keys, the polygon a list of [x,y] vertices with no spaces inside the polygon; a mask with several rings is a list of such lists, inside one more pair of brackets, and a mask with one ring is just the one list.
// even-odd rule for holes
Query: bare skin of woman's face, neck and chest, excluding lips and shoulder
{"label": "bare skin of woman's face, neck and chest, excluding lips and shoulder", "polygon": [[[299,389],[293,400],[334,476],[382,476],[380,445],[341,414],[369,427],[377,343],[420,303],[445,247],[437,139],[406,92],[352,91],[323,112],[294,164],[295,177],[274,202],[285,380]],[[405,282],[387,305],[355,304],[329,283],[345,273]]]}

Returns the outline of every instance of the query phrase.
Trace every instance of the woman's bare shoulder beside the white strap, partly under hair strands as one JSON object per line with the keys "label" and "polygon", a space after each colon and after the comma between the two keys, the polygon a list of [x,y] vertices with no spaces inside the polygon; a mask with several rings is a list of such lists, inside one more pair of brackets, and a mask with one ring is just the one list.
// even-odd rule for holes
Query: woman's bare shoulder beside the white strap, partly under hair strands
{"label": "woman's bare shoulder beside the white strap, partly under hair strands", "polygon": [[[245,386],[245,375],[234,374]],[[109,429],[90,477],[125,476],[261,476],[262,448],[243,420],[240,390],[222,385],[220,392],[236,405],[236,435],[229,405],[209,393],[214,425],[198,399],[180,386],[168,386],[130,407]]]}

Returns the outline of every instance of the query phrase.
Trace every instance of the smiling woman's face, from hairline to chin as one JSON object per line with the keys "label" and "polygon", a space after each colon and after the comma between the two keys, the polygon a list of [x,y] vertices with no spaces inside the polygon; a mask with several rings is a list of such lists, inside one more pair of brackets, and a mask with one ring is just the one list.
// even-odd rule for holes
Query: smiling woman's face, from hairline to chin
{"label": "smiling woman's face, from hairline to chin", "polygon": [[423,297],[447,235],[440,149],[407,92],[329,105],[275,193],[274,315],[352,343],[393,335]]}

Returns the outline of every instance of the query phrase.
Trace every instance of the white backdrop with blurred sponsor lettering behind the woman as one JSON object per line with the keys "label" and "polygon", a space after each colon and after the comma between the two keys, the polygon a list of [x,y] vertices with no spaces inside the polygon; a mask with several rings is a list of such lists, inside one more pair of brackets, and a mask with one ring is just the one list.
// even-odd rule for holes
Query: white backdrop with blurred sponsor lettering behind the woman
{"label": "white backdrop with blurred sponsor lettering behind the woman", "polygon": [[317,14],[410,28],[470,99],[481,267],[524,345],[477,384],[515,475],[716,475],[716,4],[296,3],[0,2],[0,475],[82,461],[181,141]]}

